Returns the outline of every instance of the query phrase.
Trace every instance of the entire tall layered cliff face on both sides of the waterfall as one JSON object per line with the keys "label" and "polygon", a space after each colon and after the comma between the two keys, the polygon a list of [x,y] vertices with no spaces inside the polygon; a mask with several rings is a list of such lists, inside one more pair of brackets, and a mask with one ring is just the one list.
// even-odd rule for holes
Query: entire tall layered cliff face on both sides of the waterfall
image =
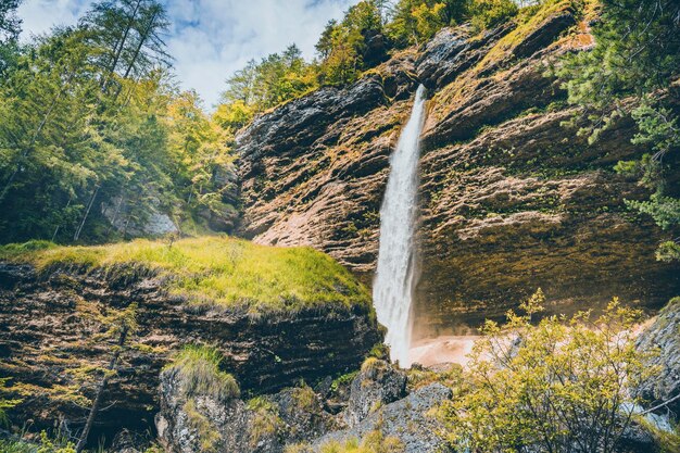
{"label": "entire tall layered cliff face on both sides of the waterfall", "polygon": [[588,29],[567,2],[482,35],[444,29],[351,87],[261,116],[238,137],[240,230],[313,246],[369,281],[388,159],[421,83],[416,336],[499,317],[538,287],[555,311],[613,295],[659,306],[680,273],[654,259],[664,234],[625,206],[648,193],[612,169],[639,151],[634,125],[622,118],[590,146],[577,135],[588,119],[546,75],[592,45]]}

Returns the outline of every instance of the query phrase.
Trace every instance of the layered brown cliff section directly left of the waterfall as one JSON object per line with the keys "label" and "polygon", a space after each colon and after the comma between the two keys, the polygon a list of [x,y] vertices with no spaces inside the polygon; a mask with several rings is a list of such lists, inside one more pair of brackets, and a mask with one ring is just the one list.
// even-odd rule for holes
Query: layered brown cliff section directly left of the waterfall
{"label": "layered brown cliff section directly left of the waterfall", "polygon": [[261,116],[238,137],[243,236],[312,246],[357,272],[373,269],[388,159],[416,86],[413,63],[405,52],[353,86]]}

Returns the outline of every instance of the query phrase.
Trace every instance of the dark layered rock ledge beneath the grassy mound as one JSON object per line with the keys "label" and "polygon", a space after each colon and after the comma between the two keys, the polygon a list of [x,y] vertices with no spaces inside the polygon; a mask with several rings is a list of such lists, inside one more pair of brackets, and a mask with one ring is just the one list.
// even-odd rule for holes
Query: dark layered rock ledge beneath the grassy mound
{"label": "dark layered rock ledge beneath the grassy mound", "polygon": [[0,264],[0,376],[11,378],[10,395],[23,399],[13,416],[38,427],[84,423],[89,403],[83,397],[98,382],[88,377],[106,366],[114,344],[102,318],[133,302],[139,327],[98,419],[97,429],[110,435],[152,426],[160,372],[181,344],[214,345],[242,391],[262,393],[355,369],[381,339],[368,309],[358,305],[251,315],[190,305],[164,288],[143,268],[38,274],[29,265]]}

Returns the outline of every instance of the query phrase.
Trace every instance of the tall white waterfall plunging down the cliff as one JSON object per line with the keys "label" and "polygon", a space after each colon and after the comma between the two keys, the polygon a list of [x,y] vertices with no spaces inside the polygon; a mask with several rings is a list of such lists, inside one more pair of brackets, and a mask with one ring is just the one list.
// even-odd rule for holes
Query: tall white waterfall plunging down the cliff
{"label": "tall white waterfall plunging down the cliff", "polygon": [[418,158],[425,122],[425,87],[416,92],[411,118],[390,158],[390,176],[380,207],[380,249],[373,300],[387,327],[392,361],[411,365],[412,301],[416,284],[414,235],[417,216]]}

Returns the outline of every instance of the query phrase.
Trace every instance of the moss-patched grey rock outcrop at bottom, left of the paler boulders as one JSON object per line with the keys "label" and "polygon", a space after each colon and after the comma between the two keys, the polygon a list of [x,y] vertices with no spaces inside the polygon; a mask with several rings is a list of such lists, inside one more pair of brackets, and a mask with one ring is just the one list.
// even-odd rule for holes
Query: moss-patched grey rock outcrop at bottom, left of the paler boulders
{"label": "moss-patched grey rock outcrop at bottom, left of the paler boulders", "polygon": [[207,451],[282,453],[286,444],[311,441],[335,427],[308,387],[257,397],[221,400],[210,394],[187,398],[177,374],[161,375],[159,440],[167,452]]}

